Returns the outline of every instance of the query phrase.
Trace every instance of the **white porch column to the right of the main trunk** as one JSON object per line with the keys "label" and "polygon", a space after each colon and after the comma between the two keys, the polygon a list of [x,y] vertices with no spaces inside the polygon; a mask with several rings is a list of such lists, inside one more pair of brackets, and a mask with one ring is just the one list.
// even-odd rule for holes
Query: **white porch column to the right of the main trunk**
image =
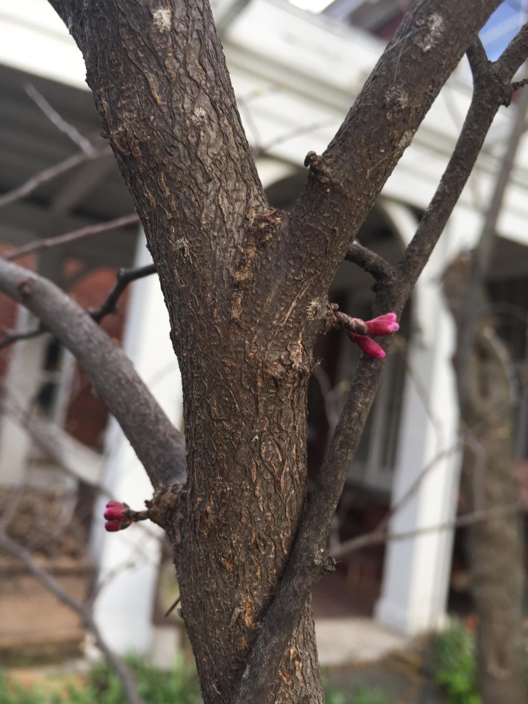
{"label": "white porch column to the right of the main trunk", "polygon": [[[438,259],[437,259],[438,260]],[[432,268],[436,272],[432,275]],[[457,403],[451,356],[454,331],[439,291],[441,267],[429,267],[413,303],[420,330],[413,337],[403,403],[391,532],[427,529],[455,516],[458,496]],[[420,479],[421,477],[421,479]],[[415,490],[406,501],[410,487]],[[451,565],[452,530],[389,541],[377,620],[402,634],[441,627]]]}

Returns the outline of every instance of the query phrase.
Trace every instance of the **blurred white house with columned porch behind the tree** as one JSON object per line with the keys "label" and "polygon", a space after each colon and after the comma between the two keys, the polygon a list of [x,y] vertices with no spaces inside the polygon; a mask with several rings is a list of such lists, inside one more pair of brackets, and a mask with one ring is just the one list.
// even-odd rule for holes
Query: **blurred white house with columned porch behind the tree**
{"label": "blurred white house with columned porch behind the tree", "polygon": [[[326,14],[315,14],[286,0],[218,0],[214,4],[239,110],[249,141],[260,155],[260,177],[275,205],[287,207],[293,202],[306,177],[304,156],[310,150],[321,153],[332,139],[383,50],[384,40],[370,32],[386,35],[396,22],[392,5],[337,0]],[[349,21],[363,29],[351,26]],[[2,193],[79,151],[71,137],[61,132],[57,120],[46,117],[27,94],[27,83],[81,134],[93,136],[99,132],[92,97],[84,83],[82,57],[61,20],[46,0],[18,4],[0,0],[0,203]],[[434,194],[470,96],[467,69],[461,65],[434,103],[363,227],[363,241],[389,259],[396,258],[410,241],[420,213]],[[460,249],[471,246],[479,234],[514,112],[515,108],[510,108],[498,115],[470,183],[417,284],[396,346],[398,351],[387,363],[370,430],[351,467],[350,496],[360,496],[363,501],[374,496],[381,505],[399,505],[391,524],[396,533],[444,524],[455,515],[458,455],[451,370],[453,325],[439,290],[439,278],[446,262]],[[528,282],[527,156],[525,138],[498,222],[502,241],[493,268],[496,289],[513,291],[508,294],[510,303],[524,308],[522,291]],[[27,199],[2,208],[0,243],[25,244],[132,210],[113,157],[106,153],[101,158],[85,159],[68,175],[58,175]],[[75,295],[84,301],[89,298],[89,286],[82,289],[83,277],[89,282],[90,275],[101,276],[101,271],[107,275],[108,268],[147,260],[142,235],[133,225],[103,237],[73,242],[63,249],[44,251],[34,265],[59,283],[69,282]],[[340,307],[348,313],[362,315],[365,310],[366,314],[370,280],[351,267],[348,264],[339,270],[332,296],[339,298]],[[119,333],[123,344],[168,415],[180,425],[179,376],[156,279],[135,284],[126,310],[125,329]],[[27,329],[32,321],[20,311],[16,324],[19,329]],[[521,332],[518,325],[510,327],[510,334],[524,336],[524,323]],[[51,373],[58,358],[66,372],[70,370],[60,378]],[[352,366],[349,348],[346,353],[339,347],[334,349],[320,384],[334,386],[350,378]],[[120,431],[109,424],[101,454],[96,430],[91,441],[78,433],[75,439],[77,429],[68,425],[77,418],[71,408],[71,393],[78,378],[73,360],[47,337],[28,339],[11,352],[6,361],[0,430],[0,484],[13,486],[24,480],[44,486],[49,485],[50,477],[59,484],[65,481],[49,463],[42,465],[35,460],[39,453],[23,416],[37,403],[39,417],[53,422],[63,438],[64,461],[77,474],[77,478],[68,479],[70,491],[75,494],[79,479],[101,481],[115,498],[139,508],[149,496],[149,485]],[[37,401],[35,389],[40,389]],[[315,385],[310,402],[314,453],[324,447],[328,425],[328,419],[322,418],[318,410],[320,406],[316,407],[318,394]],[[528,409],[527,401],[521,415]],[[520,446],[520,457],[527,449]],[[402,502],[415,484],[415,491]],[[96,617],[112,630],[113,643],[119,650],[148,650],[153,635],[161,634],[145,608],[146,603],[153,603],[158,582],[159,536],[154,527],[147,532],[134,527],[118,535],[104,534],[100,506],[98,511],[91,533],[102,585],[96,599]],[[374,608],[378,622],[402,634],[415,634],[443,622],[452,543],[449,530],[389,543],[380,558],[382,581]],[[118,569],[129,563],[130,569]]]}

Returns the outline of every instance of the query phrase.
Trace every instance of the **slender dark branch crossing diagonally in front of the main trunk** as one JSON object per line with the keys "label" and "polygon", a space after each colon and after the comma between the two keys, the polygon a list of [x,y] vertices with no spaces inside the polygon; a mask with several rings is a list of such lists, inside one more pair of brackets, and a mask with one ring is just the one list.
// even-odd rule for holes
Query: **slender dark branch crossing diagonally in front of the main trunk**
{"label": "slender dark branch crossing diagonally in front of the main trunk", "polygon": [[[427,3],[421,3],[420,7],[426,5]],[[389,45],[387,51],[391,51],[391,47],[394,48],[394,43]],[[528,44],[524,49],[528,52]],[[516,56],[519,58],[518,54]],[[382,63],[383,61],[380,62]],[[512,71],[509,73],[506,70],[495,71],[493,66],[490,65],[486,81],[480,78],[477,80],[476,77],[470,110],[453,156],[415,237],[403,255],[396,281],[390,285],[381,285],[377,291],[375,313],[386,310],[401,313],[470,176],[494,115],[511,89],[513,68],[510,67]],[[361,119],[365,119],[363,113]],[[343,149],[349,158],[346,144]],[[326,167],[322,164],[321,168],[324,170]],[[324,176],[324,172],[322,175]],[[317,197],[317,189],[313,197]],[[237,704],[246,704],[248,701],[260,704],[267,701],[268,683],[277,672],[279,660],[287,646],[289,635],[298,622],[303,605],[322,572],[331,568],[331,563],[325,557],[327,535],[365,420],[375,398],[382,368],[382,363],[377,360],[365,357],[360,359],[344,410],[298,529],[287,568],[241,678]]]}

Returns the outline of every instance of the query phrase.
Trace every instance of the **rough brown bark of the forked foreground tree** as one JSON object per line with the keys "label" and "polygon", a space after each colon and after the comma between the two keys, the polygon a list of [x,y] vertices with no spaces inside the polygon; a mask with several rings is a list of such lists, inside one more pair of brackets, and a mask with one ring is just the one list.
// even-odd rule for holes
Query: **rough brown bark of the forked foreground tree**
{"label": "rough brown bark of the forked foreground tree", "polygon": [[[166,477],[154,478],[156,520],[172,540],[204,701],[232,703],[239,692],[240,703],[321,702],[308,595],[329,567],[332,507],[381,371],[379,361],[360,363],[301,523],[313,345],[336,322],[327,289],[499,1],[413,6],[327,151],[308,154],[308,179],[291,214],[265,199],[205,0],[50,1],[84,54],[170,314],[188,480],[182,494]],[[476,122],[466,125],[414,249],[378,282],[381,312],[403,307],[510,95],[524,49],[503,62],[486,109],[475,109]],[[26,275],[20,287],[0,263],[2,277],[11,282],[4,290],[35,305],[37,277]],[[146,432],[155,437],[156,427]]]}

